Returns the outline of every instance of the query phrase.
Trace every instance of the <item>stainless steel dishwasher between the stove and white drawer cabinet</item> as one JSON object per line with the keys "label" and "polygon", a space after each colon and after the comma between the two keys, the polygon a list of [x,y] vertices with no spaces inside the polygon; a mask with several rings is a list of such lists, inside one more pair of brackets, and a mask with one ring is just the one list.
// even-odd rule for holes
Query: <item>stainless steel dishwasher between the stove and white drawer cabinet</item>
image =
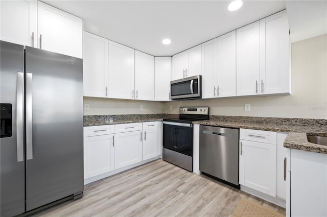
{"label": "stainless steel dishwasher between the stove and white drawer cabinet", "polygon": [[239,186],[239,129],[200,126],[200,171]]}

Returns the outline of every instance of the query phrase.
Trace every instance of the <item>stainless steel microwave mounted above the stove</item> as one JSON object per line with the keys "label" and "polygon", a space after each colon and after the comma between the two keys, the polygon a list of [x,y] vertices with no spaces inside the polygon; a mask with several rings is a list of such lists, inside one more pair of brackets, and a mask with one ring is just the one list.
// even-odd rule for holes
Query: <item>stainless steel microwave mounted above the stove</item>
{"label": "stainless steel microwave mounted above the stove", "polygon": [[201,98],[201,76],[192,76],[170,82],[172,100]]}

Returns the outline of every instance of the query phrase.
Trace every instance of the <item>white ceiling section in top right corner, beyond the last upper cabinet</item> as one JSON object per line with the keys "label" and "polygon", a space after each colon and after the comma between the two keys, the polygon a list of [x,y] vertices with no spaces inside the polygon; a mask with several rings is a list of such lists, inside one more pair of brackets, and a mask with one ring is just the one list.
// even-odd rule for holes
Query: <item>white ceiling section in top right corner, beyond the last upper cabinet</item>
{"label": "white ceiling section in top right corner, beyond the last upper cabinet", "polygon": [[327,33],[327,1],[287,1],[291,41]]}

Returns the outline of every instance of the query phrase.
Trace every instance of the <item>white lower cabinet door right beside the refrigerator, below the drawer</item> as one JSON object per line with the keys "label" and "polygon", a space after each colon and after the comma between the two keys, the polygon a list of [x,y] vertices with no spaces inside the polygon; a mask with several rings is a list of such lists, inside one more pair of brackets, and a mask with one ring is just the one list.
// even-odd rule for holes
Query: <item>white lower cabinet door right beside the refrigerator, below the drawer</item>
{"label": "white lower cabinet door right beside the refrigerator, below the drawer", "polygon": [[84,179],[113,170],[113,134],[84,137]]}

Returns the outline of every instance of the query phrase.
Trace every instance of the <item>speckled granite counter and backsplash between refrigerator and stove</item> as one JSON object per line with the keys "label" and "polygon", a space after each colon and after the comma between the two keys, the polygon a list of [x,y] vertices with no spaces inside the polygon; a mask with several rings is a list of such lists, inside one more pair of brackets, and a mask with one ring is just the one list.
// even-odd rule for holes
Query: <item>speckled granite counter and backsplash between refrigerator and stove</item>
{"label": "speckled granite counter and backsplash between refrigerator and stove", "polygon": [[[162,120],[162,118],[178,118],[178,116],[178,114],[85,115],[84,127],[138,122],[156,122],[158,120]],[[113,122],[109,122],[110,118],[113,118]]]}

